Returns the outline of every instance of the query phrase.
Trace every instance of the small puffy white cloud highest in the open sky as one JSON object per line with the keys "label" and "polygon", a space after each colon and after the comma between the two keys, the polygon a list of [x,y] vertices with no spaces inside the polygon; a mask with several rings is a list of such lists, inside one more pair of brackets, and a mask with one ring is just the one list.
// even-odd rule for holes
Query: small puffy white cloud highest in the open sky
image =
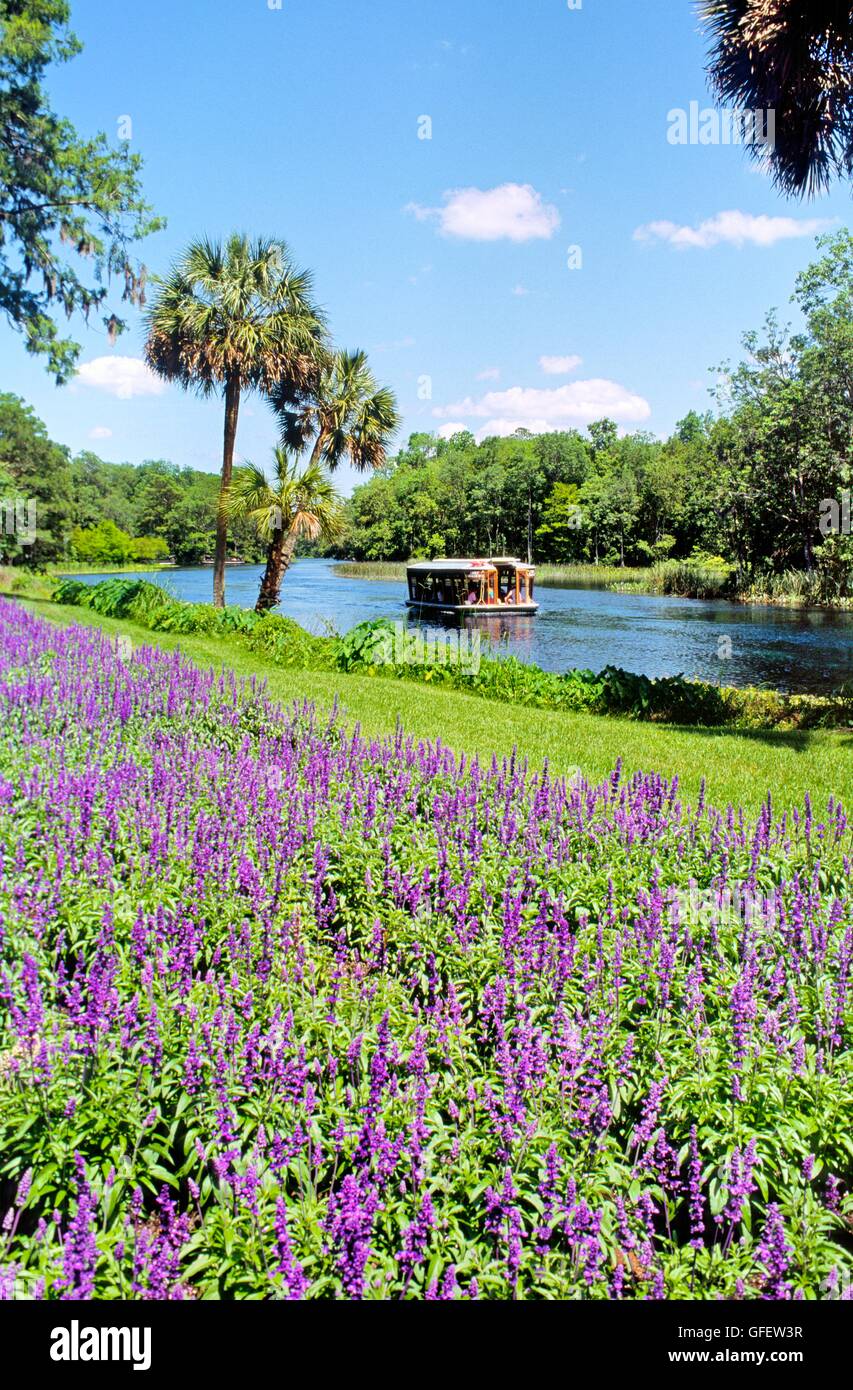
{"label": "small puffy white cloud highest in the open sky", "polygon": [[531,183],[502,183],[499,188],[456,188],[445,195],[443,207],[408,203],[404,211],[420,222],[436,221],[443,236],[470,242],[547,240],[560,225],[560,213]]}

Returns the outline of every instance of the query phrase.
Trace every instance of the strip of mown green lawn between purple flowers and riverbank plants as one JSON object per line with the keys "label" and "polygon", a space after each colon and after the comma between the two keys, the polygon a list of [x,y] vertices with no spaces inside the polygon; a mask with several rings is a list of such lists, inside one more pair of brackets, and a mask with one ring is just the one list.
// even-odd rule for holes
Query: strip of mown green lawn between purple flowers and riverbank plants
{"label": "strip of mown green lawn between purple flowers and riverbank plants", "polygon": [[756,810],[768,791],[777,809],[799,805],[810,792],[815,808],[829,795],[852,799],[853,734],[849,731],[746,733],[672,728],[596,714],[510,708],[495,701],[442,691],[408,681],[346,676],[333,671],[289,671],[206,637],[153,634],[124,619],[99,617],[86,609],[31,602],[33,612],[56,623],[89,623],[125,634],[139,645],[181,651],[200,666],[231,667],[238,676],[263,677],[282,702],[311,699],[321,706],[338,701],[347,721],[368,734],[388,734],[397,720],[415,738],[442,739],[479,758],[510,753],[532,764],[549,760],[556,771],[581,767],[599,778],[617,758],[627,771],[678,774],[684,796],[693,799],[700,778],[715,805],[740,803]]}

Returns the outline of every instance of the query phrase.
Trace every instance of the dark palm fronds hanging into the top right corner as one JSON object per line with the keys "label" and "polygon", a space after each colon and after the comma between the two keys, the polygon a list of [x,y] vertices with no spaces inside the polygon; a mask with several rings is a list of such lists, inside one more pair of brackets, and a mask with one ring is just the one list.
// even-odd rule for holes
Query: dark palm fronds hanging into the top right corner
{"label": "dark palm fronds hanging into the top right corner", "polygon": [[853,172],[853,8],[849,0],[700,0],[710,78],[724,103],[774,111],[774,143],[753,145],[786,195]]}

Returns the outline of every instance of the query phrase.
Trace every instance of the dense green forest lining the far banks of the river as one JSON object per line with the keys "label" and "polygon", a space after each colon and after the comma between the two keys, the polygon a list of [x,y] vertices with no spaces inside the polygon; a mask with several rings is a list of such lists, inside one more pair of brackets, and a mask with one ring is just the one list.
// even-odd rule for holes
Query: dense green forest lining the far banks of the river
{"label": "dense green forest lining the far banks of the river", "polygon": [[[415,434],[357,486],[329,553],[357,560],[513,552],[539,562],[731,567],[742,587],[786,571],[850,592],[853,538],[853,236],[824,238],[796,282],[803,327],[770,314],[743,360],[715,374],[715,410],[668,439],[588,431],[450,439]],[[118,564],[213,550],[218,478],[163,460],[71,457],[21,400],[0,396],[0,495],[35,498],[38,538],[4,559]],[[235,521],[229,550],[263,546]]]}

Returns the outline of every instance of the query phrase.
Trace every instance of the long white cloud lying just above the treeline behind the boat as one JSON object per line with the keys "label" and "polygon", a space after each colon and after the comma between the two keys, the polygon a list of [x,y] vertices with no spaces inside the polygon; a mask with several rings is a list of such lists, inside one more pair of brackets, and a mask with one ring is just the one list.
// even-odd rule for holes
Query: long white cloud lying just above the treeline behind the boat
{"label": "long white cloud lying just above the treeline behind the boat", "polygon": [[[486,434],[513,434],[518,428],[539,434],[567,430],[604,416],[622,424],[640,424],[649,418],[652,407],[643,396],[618,382],[593,377],[550,389],[511,386],[508,391],[488,391],[479,399],[467,396],[452,406],[436,406],[432,413],[439,420],[456,421],[460,416],[486,420],[488,424],[477,431],[478,438],[483,438]],[[454,424],[453,428],[460,427]]]}

